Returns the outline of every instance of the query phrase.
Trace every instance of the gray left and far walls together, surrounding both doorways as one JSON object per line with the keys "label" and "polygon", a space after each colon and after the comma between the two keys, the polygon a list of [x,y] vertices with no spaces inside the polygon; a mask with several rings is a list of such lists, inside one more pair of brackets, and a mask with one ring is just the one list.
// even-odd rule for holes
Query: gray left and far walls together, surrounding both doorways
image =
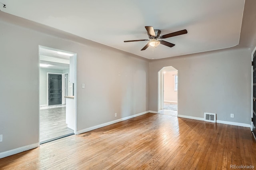
{"label": "gray left and far walls together, surrounding both doorways", "polygon": [[164,66],[178,69],[180,115],[203,117],[210,112],[218,120],[250,124],[250,49],[149,62],[4,12],[0,25],[0,152],[39,142],[38,45],[77,53],[77,130],[157,111],[157,73]]}

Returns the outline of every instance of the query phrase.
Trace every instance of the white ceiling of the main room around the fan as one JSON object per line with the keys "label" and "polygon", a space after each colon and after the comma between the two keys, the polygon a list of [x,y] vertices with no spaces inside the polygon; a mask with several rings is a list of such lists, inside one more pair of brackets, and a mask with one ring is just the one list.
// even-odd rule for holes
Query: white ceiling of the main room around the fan
{"label": "white ceiling of the main room around the fan", "polygon": [[[0,10],[121,49],[148,59],[160,59],[238,45],[244,0],[1,0]],[[144,26],[161,35],[188,30],[166,38],[174,47],[159,45],[140,51],[148,39]]]}

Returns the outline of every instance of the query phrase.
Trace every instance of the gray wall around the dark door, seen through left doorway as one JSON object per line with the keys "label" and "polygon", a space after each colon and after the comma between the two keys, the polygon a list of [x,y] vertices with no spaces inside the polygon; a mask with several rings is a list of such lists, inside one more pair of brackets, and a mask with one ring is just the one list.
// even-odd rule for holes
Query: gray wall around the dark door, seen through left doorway
{"label": "gray wall around the dark door, seen through left doorway", "polygon": [[[65,70],[66,71],[66,70]],[[63,73],[64,70],[40,68],[40,105],[47,104],[47,73]],[[64,72],[67,73],[67,72]]]}

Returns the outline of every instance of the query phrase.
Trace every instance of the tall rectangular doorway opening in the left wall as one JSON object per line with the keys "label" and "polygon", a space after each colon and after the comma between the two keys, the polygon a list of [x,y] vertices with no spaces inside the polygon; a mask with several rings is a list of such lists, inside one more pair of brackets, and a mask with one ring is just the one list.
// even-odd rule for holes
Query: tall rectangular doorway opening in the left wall
{"label": "tall rectangular doorway opening in the left wall", "polygon": [[39,61],[39,141],[43,144],[76,134],[76,53],[39,45]]}

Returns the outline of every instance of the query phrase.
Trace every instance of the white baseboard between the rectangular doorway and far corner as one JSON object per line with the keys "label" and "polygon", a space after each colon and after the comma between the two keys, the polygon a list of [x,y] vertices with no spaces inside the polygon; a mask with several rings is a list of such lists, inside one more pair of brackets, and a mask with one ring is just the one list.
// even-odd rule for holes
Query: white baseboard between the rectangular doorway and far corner
{"label": "white baseboard between the rectangular doorway and far corner", "polygon": [[112,125],[114,123],[125,121],[127,119],[131,119],[131,118],[134,118],[134,117],[138,117],[138,116],[144,115],[146,113],[151,113],[151,112],[150,111],[146,111],[146,112],[138,113],[136,115],[132,115],[132,116],[124,117],[124,118],[121,118],[121,119],[117,119],[117,120],[114,120],[114,121],[111,121],[111,122],[107,122],[107,123],[103,123],[103,124],[100,124],[100,125],[96,125],[94,127],[89,127],[89,128],[85,128],[85,129],[82,129],[82,130],[78,130],[77,134],[88,132],[88,131],[91,131],[91,130],[94,130],[94,129],[97,129],[97,128],[101,128],[101,127],[106,127],[108,125]]}

